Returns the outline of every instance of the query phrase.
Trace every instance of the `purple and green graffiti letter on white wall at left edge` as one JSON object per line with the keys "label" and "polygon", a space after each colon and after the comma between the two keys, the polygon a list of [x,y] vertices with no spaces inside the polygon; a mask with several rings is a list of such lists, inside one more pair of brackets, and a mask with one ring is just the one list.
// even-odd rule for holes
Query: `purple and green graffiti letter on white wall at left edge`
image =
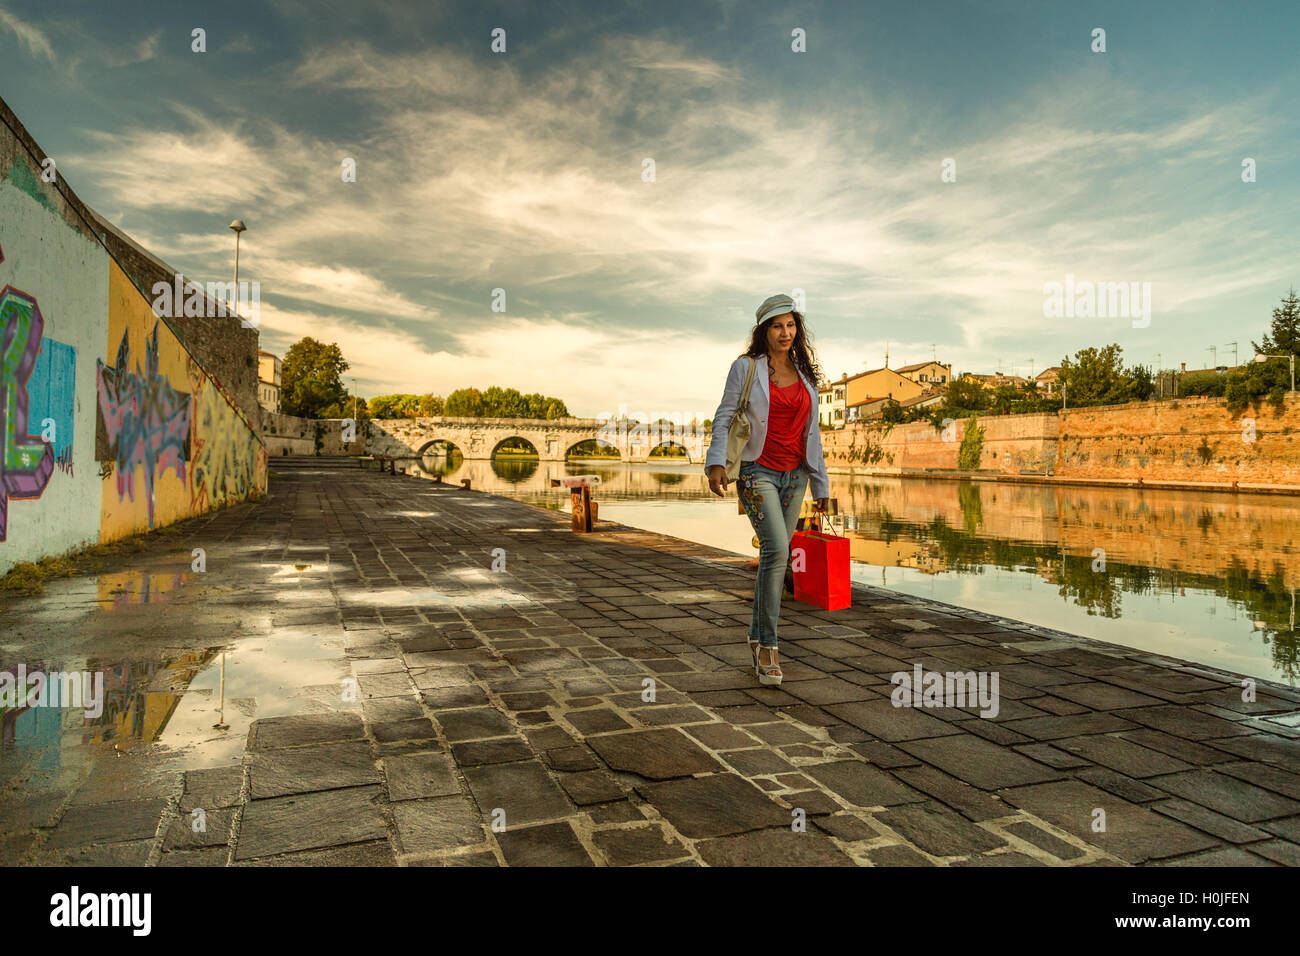
{"label": "purple and green graffiti letter on white wall at left edge", "polygon": [[44,326],[36,300],[5,286],[0,293],[0,541],[9,532],[9,499],[39,498],[55,471],[55,450],[29,433],[27,421],[27,381]]}

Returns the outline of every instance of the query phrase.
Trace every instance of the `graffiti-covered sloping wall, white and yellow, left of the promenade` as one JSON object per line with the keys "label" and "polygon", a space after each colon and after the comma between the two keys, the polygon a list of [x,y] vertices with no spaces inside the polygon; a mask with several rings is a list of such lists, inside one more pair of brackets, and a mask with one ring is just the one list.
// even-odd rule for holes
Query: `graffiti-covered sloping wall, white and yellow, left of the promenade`
{"label": "graffiti-covered sloping wall, white and yellow, left of the promenade", "polygon": [[0,574],[266,489],[265,449],[220,375],[153,315],[61,176],[43,181],[43,159],[0,100]]}

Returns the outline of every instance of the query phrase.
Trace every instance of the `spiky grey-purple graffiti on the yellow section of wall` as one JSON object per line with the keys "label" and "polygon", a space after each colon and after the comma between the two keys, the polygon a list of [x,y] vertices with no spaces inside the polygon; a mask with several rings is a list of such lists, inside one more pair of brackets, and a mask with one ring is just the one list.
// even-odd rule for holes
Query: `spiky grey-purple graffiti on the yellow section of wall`
{"label": "spiky grey-purple graffiti on the yellow section of wall", "polygon": [[108,447],[101,460],[116,463],[117,497],[135,501],[135,468],[144,475],[148,527],[153,527],[153,481],[172,468],[186,480],[194,402],[159,373],[159,323],[144,342],[144,371],[131,368],[130,332],[117,346],[117,364],[96,359],[99,415]]}

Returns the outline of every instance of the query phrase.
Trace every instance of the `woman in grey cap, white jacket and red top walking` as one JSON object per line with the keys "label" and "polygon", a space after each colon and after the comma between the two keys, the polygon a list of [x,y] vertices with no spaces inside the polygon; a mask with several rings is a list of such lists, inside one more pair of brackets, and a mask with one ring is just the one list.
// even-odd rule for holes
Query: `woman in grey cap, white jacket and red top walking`
{"label": "woman in grey cap, white jacket and red top walking", "polygon": [[[736,493],[758,536],[754,617],[749,649],[760,684],[780,684],[776,624],[790,538],[809,483],[814,510],[826,511],[829,480],[818,428],[816,384],[822,369],[789,295],[772,295],[758,307],[749,349],[727,373],[723,401],[714,412],[712,440],[705,457],[708,488],[718,497],[728,484],[728,433],[738,406],[749,420],[749,441],[740,453]],[[751,382],[748,395],[742,394]]]}

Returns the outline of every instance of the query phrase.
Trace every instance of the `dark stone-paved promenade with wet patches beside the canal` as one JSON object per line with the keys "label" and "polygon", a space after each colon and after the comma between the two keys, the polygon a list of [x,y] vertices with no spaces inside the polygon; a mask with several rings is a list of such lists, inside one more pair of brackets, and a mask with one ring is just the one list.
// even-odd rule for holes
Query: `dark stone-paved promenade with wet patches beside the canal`
{"label": "dark stone-paved promenade with wet patches beside the canal", "polygon": [[[218,645],[265,661],[228,689],[224,744],[4,750],[0,861],[1300,862],[1295,689],[1243,704],[1230,675],[861,587],[850,610],[786,601],[785,683],[763,688],[742,557],[607,523],[578,536],[355,463],[273,468],[265,502],[118,559],[188,572],[204,548],[173,591],[105,600],[73,578],[0,605],[6,666]],[[996,670],[1000,713],[894,708],[889,676],[915,663]],[[179,695],[173,722],[200,693],[178,672],[155,678]]]}

